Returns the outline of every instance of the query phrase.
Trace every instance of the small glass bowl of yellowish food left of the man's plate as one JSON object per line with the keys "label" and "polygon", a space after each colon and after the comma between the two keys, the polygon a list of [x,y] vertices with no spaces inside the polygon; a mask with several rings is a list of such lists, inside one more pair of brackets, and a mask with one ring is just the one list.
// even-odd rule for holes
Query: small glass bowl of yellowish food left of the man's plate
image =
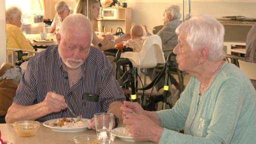
{"label": "small glass bowl of yellowish food left of the man's plate", "polygon": [[40,127],[40,122],[32,120],[17,121],[12,123],[14,131],[19,136],[33,136]]}

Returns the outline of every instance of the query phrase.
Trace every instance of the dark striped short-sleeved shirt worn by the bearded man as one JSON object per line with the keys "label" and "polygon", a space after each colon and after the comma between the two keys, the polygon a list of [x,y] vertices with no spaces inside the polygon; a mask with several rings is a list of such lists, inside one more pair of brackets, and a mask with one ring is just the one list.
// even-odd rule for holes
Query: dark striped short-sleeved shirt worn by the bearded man
{"label": "dark striped short-sleeved shirt worn by the bearded man", "polygon": [[[90,119],[94,113],[106,112],[111,102],[125,100],[112,73],[113,67],[104,53],[91,46],[81,66],[81,77],[70,87],[68,73],[63,69],[57,45],[49,46],[29,59],[13,102],[33,105],[42,102],[47,92],[55,91],[64,95],[66,103],[76,115],[82,114],[83,118]],[[98,101],[84,100],[84,93],[98,95]],[[36,120],[43,122],[62,117],[73,116],[66,108]]]}

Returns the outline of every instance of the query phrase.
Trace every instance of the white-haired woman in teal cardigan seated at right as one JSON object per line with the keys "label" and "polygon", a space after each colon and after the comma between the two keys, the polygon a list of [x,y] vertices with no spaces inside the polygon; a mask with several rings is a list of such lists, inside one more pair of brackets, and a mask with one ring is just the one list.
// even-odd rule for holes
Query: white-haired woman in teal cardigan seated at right
{"label": "white-haired woman in teal cardigan seated at right", "polygon": [[[123,123],[132,137],[158,143],[255,143],[256,91],[245,73],[222,60],[223,25],[197,15],[176,33],[178,68],[192,76],[172,109],[146,111],[124,101]],[[176,132],[181,129],[184,134]]]}

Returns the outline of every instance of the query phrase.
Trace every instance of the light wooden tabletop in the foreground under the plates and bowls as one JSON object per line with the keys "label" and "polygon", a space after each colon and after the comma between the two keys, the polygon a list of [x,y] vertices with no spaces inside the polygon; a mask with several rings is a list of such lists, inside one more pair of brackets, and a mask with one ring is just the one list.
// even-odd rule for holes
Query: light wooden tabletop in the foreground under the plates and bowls
{"label": "light wooden tabletop in the foreground under the plates and bowls", "polygon": [[[58,132],[53,131],[48,127],[45,127],[40,124],[38,132],[34,136],[30,137],[21,137],[18,136],[14,129],[12,128],[11,124],[9,123],[3,123],[0,124],[0,130],[1,130],[1,137],[5,141],[10,141],[13,144],[27,144],[27,143],[47,143],[47,144],[55,144],[55,143],[64,143],[64,144],[73,144],[73,137],[76,135],[83,135],[83,134],[96,134],[95,130],[92,129],[86,129],[79,132]],[[111,141],[113,144],[122,144],[122,143],[133,143],[133,144],[144,144],[144,143],[153,143],[150,141],[144,141],[144,142],[132,142],[132,141],[125,141],[118,137],[115,137],[114,141]]]}

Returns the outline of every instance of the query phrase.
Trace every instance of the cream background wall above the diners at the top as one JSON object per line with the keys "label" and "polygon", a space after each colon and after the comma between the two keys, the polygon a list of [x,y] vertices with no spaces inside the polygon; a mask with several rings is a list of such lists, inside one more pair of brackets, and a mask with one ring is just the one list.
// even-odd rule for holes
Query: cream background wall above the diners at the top
{"label": "cream background wall above the diners at the top", "polygon": [[[53,0],[53,4],[57,1]],[[64,1],[72,8],[75,7],[75,0]],[[127,0],[127,6],[132,7],[132,25],[145,23],[150,30],[153,26],[162,24],[164,7],[177,4],[180,6],[182,14],[182,2],[183,0]],[[230,15],[256,17],[255,7],[256,0],[191,0],[192,15],[204,13],[216,18]],[[184,0],[185,14],[188,13],[187,9],[187,0]]]}

